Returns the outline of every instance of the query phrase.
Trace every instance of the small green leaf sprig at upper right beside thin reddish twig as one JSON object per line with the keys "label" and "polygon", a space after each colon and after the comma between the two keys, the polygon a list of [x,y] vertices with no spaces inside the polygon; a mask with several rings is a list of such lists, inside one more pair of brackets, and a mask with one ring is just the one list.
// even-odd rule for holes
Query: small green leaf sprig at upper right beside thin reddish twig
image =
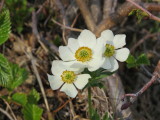
{"label": "small green leaf sprig at upper right beside thin reddish twig", "polygon": [[144,18],[144,17],[148,17],[148,14],[146,12],[143,12],[142,10],[140,9],[134,9],[132,10],[130,13],[129,13],[129,16],[130,15],[136,15],[137,19],[138,19],[138,23],[141,22],[141,20]]}

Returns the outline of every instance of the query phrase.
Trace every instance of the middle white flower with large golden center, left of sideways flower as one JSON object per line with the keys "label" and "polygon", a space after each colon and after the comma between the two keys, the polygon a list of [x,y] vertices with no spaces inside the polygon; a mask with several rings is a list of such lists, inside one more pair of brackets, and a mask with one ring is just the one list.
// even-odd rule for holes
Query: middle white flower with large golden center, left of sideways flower
{"label": "middle white flower with large golden center, left of sideways flower", "polygon": [[86,67],[89,71],[95,71],[102,64],[96,45],[96,36],[89,30],[83,30],[78,39],[69,38],[67,46],[59,47],[60,57],[70,62],[71,67]]}

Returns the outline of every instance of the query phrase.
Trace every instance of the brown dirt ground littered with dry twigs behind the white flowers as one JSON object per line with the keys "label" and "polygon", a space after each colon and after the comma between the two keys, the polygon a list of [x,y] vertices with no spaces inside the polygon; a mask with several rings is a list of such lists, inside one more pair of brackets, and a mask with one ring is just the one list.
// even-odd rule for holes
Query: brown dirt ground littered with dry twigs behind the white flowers
{"label": "brown dirt ground littered with dry twigs behind the white flowers", "polygon": [[[160,16],[160,2],[134,1],[155,16]],[[93,18],[92,21],[85,17],[89,15],[83,2],[90,11],[89,15]],[[150,4],[153,5],[152,8],[147,7]],[[156,6],[154,7],[154,5]],[[141,65],[137,68],[129,69],[126,67],[126,63],[120,63],[120,68],[115,73],[120,84],[122,83],[119,88],[113,87],[118,90],[118,94],[122,95],[123,91],[136,93],[150,81],[160,60],[160,22],[149,17],[144,17],[141,22],[138,22],[136,15],[128,16],[129,11],[134,9],[131,6],[134,5],[125,0],[86,0],[82,2],[79,0],[28,0],[27,8],[31,8],[31,11],[26,12],[13,10],[13,8],[22,9],[19,5],[10,6],[12,32],[8,41],[0,46],[0,52],[10,62],[18,64],[29,72],[28,79],[16,88],[14,93],[29,93],[32,88],[35,88],[41,94],[38,105],[44,110],[42,120],[48,119],[47,108],[35,74],[34,66],[36,66],[37,74],[44,86],[49,109],[52,115],[54,114],[55,120],[87,120],[87,91],[79,92],[76,98],[70,99],[59,90],[53,91],[50,88],[47,73],[51,74],[51,62],[60,59],[58,47],[65,45],[68,38],[77,38],[80,34],[79,30],[83,29],[89,29],[98,36],[99,31],[103,30],[101,26],[111,29],[114,34],[126,34],[126,46],[131,50],[131,54],[139,56],[145,53],[149,58],[150,65]],[[18,16],[22,16],[23,19]],[[101,23],[102,20],[104,20],[103,23]],[[18,24],[22,24],[22,26]],[[31,54],[28,55],[28,52]],[[35,61],[34,64],[33,61]],[[120,100],[121,96],[117,95],[115,98],[111,98],[110,94],[114,93],[110,93],[110,87],[107,88],[109,85],[107,78],[104,79],[104,82],[106,89],[93,88],[92,90],[94,107],[101,115],[108,111],[113,120],[160,119],[160,84],[158,82],[138,97],[131,105],[129,113],[127,110],[124,110],[126,113],[119,111],[120,115],[116,115],[116,113],[117,110],[120,110],[117,108],[118,104],[123,104]],[[8,91],[0,87],[0,95],[7,94]],[[114,105],[113,100],[116,100]],[[14,103],[9,106],[17,120],[23,120],[21,107]],[[2,99],[0,99],[0,107],[8,109]],[[0,112],[0,120],[9,119]]]}

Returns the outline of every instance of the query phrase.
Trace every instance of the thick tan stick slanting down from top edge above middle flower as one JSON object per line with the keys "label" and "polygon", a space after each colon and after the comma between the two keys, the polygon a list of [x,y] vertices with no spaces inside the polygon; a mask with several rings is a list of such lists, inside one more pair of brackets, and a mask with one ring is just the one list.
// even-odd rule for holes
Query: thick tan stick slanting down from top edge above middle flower
{"label": "thick tan stick slanting down from top edge above middle flower", "polygon": [[77,5],[79,6],[79,9],[83,15],[83,18],[86,22],[86,25],[89,30],[94,31],[96,27],[96,23],[85,3],[85,0],[76,0]]}

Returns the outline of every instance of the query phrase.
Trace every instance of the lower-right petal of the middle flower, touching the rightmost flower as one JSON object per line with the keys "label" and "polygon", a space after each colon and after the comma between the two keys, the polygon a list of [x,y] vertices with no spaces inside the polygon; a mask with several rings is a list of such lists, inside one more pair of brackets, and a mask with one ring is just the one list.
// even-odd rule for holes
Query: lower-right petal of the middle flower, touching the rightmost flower
{"label": "lower-right petal of the middle flower, touching the rightmost flower", "polygon": [[88,62],[88,70],[89,71],[95,71],[99,69],[102,64],[104,63],[105,58],[101,56],[97,56],[97,58],[93,58],[91,61]]}

